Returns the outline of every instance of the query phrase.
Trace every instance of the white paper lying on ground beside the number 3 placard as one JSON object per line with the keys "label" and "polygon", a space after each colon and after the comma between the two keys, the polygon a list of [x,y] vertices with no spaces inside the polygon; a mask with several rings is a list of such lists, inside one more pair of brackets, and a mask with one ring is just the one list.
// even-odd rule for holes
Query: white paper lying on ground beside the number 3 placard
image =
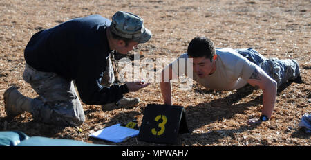
{"label": "white paper lying on ground beside the number 3 placard", "polygon": [[111,125],[110,127],[106,127],[102,130],[94,132],[90,134],[98,139],[104,139],[106,141],[112,141],[115,143],[119,143],[125,141],[129,137],[137,136],[139,130],[134,130],[128,127],[120,126],[120,124]]}

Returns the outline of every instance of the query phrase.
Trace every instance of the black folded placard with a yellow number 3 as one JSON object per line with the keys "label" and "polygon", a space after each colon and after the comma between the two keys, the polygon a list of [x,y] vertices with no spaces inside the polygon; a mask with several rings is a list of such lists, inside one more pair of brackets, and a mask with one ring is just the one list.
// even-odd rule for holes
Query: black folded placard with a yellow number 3
{"label": "black folded placard with a yellow number 3", "polygon": [[144,110],[139,141],[175,143],[178,133],[189,132],[185,109],[177,105],[148,104]]}

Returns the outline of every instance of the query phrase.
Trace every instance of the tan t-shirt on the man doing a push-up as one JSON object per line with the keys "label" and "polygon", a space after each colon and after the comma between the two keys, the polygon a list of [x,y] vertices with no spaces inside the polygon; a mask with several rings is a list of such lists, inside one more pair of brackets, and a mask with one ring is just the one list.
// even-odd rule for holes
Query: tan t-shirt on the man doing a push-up
{"label": "tan t-shirt on the man doing a push-up", "polygon": [[[232,48],[216,48],[216,54],[216,71],[213,74],[207,75],[205,78],[199,78],[196,73],[193,73],[193,76],[186,75],[209,89],[232,90],[245,86],[247,84],[246,80],[254,72],[256,64],[250,62]],[[182,64],[185,64],[185,73],[189,74],[187,64],[191,64],[191,61],[188,60],[187,53],[180,55],[171,64],[177,63],[180,58],[185,58],[185,63]],[[183,66],[182,64],[178,64],[179,67]],[[178,73],[176,68],[173,67],[173,74],[175,75]]]}

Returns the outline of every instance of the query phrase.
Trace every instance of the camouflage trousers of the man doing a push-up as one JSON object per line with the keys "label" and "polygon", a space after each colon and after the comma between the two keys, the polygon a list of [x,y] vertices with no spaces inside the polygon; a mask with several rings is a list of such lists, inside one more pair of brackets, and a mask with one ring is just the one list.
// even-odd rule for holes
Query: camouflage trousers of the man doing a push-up
{"label": "camouflage trousers of the man doing a push-up", "polygon": [[236,49],[236,51],[249,61],[260,66],[267,75],[278,83],[278,87],[288,82],[288,80],[296,79],[300,75],[299,64],[296,60],[267,59],[253,48]]}

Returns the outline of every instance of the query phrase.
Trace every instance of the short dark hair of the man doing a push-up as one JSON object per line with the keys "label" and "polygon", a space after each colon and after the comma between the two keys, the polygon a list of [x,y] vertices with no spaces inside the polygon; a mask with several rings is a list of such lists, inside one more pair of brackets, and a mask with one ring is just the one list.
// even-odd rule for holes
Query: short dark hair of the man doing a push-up
{"label": "short dark hair of the man doing a push-up", "polygon": [[207,37],[195,37],[188,45],[187,54],[191,57],[207,57],[212,60],[216,54],[214,42]]}

